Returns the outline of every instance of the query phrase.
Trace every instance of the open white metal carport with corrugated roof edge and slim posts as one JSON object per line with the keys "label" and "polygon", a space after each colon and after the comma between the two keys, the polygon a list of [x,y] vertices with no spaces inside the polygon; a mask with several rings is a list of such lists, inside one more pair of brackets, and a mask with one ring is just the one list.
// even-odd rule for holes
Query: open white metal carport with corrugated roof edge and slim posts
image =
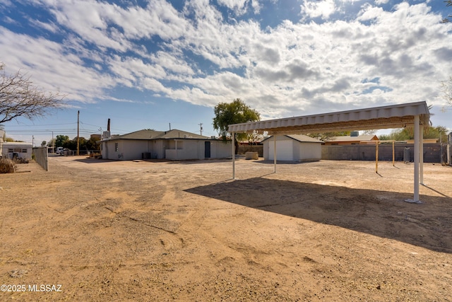
{"label": "open white metal carport with corrugated roof edge and slim posts", "polygon": [[[392,129],[414,127],[415,129],[415,171],[414,171],[414,199],[419,200],[419,173],[423,171],[422,162],[422,125],[429,124],[429,108],[427,103],[405,103],[359,110],[331,112],[321,115],[305,115],[301,117],[287,117],[277,120],[246,122],[230,124],[228,131],[232,133],[263,133],[278,134],[309,134],[318,132],[338,132],[350,130]],[[232,144],[234,148],[234,144]],[[232,152],[232,178],[235,178],[235,156]],[[275,156],[276,165],[276,156]],[[275,168],[276,171],[276,168]],[[421,175],[423,182],[423,175]]]}

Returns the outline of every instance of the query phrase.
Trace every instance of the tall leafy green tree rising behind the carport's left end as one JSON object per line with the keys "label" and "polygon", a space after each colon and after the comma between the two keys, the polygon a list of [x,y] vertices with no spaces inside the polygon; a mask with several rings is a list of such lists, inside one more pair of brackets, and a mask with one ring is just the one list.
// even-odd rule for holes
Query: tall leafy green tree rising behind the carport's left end
{"label": "tall leafy green tree rising behind the carport's left end", "polygon": [[[242,122],[256,122],[261,120],[261,115],[254,109],[251,109],[243,100],[236,98],[232,103],[219,103],[214,109],[213,129],[218,131],[218,135],[224,141],[227,139],[227,128],[230,124],[239,124]],[[239,151],[239,141],[246,139],[245,133],[235,134],[235,148],[237,154]]]}

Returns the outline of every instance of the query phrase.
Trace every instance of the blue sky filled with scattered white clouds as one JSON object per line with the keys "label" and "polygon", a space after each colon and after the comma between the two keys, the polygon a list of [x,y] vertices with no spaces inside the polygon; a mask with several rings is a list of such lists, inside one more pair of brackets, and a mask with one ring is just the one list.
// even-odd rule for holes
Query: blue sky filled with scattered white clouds
{"label": "blue sky filled with scattered white clouds", "polygon": [[[7,122],[34,142],[140,129],[206,136],[235,98],[261,120],[427,101],[452,131],[444,1],[0,0],[0,62],[66,95],[52,115]],[[377,134],[386,134],[377,132]]]}

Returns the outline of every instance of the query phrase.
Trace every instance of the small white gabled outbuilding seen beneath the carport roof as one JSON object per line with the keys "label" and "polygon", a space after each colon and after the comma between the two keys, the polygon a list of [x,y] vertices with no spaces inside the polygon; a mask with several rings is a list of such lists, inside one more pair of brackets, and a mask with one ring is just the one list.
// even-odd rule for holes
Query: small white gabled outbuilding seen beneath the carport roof
{"label": "small white gabled outbuilding seen beneath the carport roof", "polygon": [[[322,142],[303,134],[277,135],[276,159],[278,161],[319,161],[322,155]],[[273,161],[275,158],[273,137],[264,139],[262,144],[263,158]]]}

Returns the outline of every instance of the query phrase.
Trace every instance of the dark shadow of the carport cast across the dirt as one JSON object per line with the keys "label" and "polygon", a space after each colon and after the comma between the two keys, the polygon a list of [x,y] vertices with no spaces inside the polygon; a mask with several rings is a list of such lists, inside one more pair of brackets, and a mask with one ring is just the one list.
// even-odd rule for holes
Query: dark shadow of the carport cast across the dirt
{"label": "dark shadow of the carport cast across the dirt", "polygon": [[[452,253],[452,199],[250,178],[185,190],[263,211],[326,223],[437,252]],[[272,196],[279,196],[272,198]]]}

